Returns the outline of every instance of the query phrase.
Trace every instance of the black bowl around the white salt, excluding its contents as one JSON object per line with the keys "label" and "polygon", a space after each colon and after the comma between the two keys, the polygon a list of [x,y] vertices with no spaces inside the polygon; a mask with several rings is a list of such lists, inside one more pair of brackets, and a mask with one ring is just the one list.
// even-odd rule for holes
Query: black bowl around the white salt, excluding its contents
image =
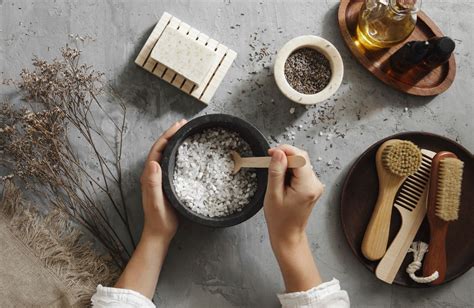
{"label": "black bowl around the white salt, excluding its contents", "polygon": [[267,186],[267,169],[256,169],[258,187],[250,203],[247,204],[242,211],[223,217],[207,217],[191,211],[186,205],[179,201],[173,185],[176,154],[178,153],[178,148],[181,143],[187,137],[199,133],[204,129],[217,127],[239,133],[250,145],[254,156],[268,155],[267,151],[270,147],[268,141],[252,124],[226,114],[211,114],[195,118],[176,132],[163,152],[161,159],[163,190],[170,204],[189,220],[209,227],[230,227],[249,219],[262,208]]}

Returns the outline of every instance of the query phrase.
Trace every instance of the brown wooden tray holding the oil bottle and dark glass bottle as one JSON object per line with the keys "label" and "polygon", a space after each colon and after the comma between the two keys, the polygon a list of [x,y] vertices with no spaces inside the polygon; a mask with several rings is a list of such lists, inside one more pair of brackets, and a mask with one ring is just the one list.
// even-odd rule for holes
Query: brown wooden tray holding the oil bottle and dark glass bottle
{"label": "brown wooden tray holding the oil bottle and dark glass bottle", "polygon": [[361,0],[341,0],[339,4],[339,28],[354,57],[378,79],[399,91],[418,96],[432,96],[446,91],[456,75],[454,54],[447,63],[430,72],[411,70],[409,74],[400,75],[391,70],[388,62],[390,56],[406,42],[444,36],[436,24],[420,11],[415,30],[405,41],[388,49],[369,51],[358,44],[356,38],[357,19],[363,2]]}

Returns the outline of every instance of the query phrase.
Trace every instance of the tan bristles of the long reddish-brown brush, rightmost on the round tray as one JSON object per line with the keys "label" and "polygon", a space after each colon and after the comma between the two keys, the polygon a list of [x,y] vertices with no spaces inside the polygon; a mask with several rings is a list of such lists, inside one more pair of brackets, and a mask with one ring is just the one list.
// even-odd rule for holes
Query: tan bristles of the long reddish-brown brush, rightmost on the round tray
{"label": "tan bristles of the long reddish-brown brush, rightmost on the round tray", "polygon": [[453,157],[439,163],[435,213],[445,221],[458,219],[463,167],[464,163]]}

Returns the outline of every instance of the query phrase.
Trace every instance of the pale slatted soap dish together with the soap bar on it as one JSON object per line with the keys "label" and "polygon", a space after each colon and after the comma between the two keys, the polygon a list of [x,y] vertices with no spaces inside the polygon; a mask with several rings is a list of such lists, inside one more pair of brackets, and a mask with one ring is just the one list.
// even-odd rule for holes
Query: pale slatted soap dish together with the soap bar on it
{"label": "pale slatted soap dish together with the soap bar on it", "polygon": [[237,53],[163,13],[135,63],[208,104]]}

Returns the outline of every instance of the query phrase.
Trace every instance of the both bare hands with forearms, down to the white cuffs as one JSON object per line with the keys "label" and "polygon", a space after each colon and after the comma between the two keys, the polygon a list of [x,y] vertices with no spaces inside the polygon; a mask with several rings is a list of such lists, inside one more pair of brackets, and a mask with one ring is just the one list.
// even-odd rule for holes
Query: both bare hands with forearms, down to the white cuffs
{"label": "both bare hands with forearms, down to the white cuffs", "polygon": [[[142,237],[127,266],[115,283],[116,288],[131,289],[152,298],[169,243],[178,229],[178,217],[162,189],[162,151],[169,139],[186,123],[176,122],[153,145],[141,176],[145,222]],[[272,161],[265,196],[265,219],[287,292],[308,290],[321,282],[305,227],[323,187],[309,164],[306,152],[289,145],[271,149]],[[287,155],[303,155],[307,164],[293,169],[285,182]]]}

